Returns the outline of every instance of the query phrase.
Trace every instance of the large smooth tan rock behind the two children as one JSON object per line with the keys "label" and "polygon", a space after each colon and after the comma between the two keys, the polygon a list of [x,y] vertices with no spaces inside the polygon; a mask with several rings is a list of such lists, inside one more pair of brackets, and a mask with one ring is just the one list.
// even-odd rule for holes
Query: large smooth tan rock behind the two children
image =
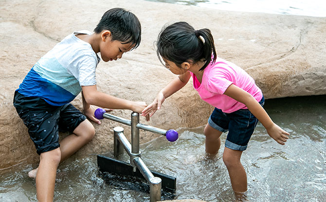
{"label": "large smooth tan rock behind the two children", "polygon": [[[266,98],[326,93],[326,18],[226,12],[144,0],[3,0],[0,170],[38,161],[27,129],[12,106],[14,91],[26,73],[63,37],[81,29],[93,30],[103,13],[113,7],[124,7],[138,16],[142,43],[119,61],[100,62],[96,76],[102,92],[150,103],[175,77],[160,64],[153,43],[163,25],[183,20],[196,29],[211,29],[217,54],[250,73]],[[82,108],[80,96],[73,104]],[[212,109],[199,99],[190,82],[167,99],[146,124],[162,129],[197,127],[206,123]],[[130,119],[131,111],[112,113]],[[95,125],[95,138],[77,155],[111,151],[112,128],[119,125],[109,120]],[[129,127],[123,127],[129,138]],[[142,131],[141,143],[157,136]]]}

